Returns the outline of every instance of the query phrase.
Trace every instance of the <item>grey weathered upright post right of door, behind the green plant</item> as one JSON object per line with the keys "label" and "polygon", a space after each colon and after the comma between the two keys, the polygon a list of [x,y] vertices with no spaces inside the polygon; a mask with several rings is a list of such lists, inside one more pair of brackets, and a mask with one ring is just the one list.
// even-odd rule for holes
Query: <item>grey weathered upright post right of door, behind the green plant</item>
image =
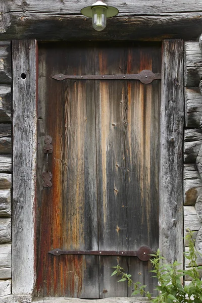
{"label": "grey weathered upright post right of door, behind the green plant", "polygon": [[182,263],[183,41],[165,40],[163,49],[159,245],[167,262]]}

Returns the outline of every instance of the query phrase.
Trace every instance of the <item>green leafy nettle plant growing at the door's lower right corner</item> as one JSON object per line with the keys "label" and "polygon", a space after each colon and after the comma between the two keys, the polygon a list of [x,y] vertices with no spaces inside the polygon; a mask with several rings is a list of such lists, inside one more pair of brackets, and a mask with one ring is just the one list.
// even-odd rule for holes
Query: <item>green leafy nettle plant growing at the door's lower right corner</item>
{"label": "green leafy nettle plant growing at the door's lower right corner", "polygon": [[[178,262],[174,262],[172,265],[163,264],[165,258],[162,257],[161,251],[158,249],[154,255],[150,255],[152,258],[150,262],[153,265],[154,278],[158,278],[158,286],[155,290],[159,290],[157,297],[152,297],[149,291],[146,291],[147,285],[142,285],[140,282],[134,282],[131,279],[131,275],[127,274],[120,265],[114,266],[115,269],[111,277],[114,275],[122,276],[118,282],[127,281],[128,285],[133,285],[133,292],[131,295],[144,295],[150,302],[156,303],[173,303],[173,302],[202,302],[202,281],[200,281],[198,269],[202,269],[202,266],[196,264],[196,253],[194,250],[193,234],[190,232],[186,239],[189,242],[189,251],[184,253],[186,259],[189,260],[188,270],[178,270],[180,265]],[[181,279],[183,276],[188,275],[192,278],[189,285],[182,285]]]}

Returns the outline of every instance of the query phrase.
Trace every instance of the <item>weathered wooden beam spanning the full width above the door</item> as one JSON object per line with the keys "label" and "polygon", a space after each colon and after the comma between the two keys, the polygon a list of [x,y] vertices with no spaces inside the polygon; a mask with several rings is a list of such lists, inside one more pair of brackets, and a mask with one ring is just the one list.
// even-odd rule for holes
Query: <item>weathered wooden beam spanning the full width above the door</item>
{"label": "weathered wooden beam spanning the full width above the door", "polygon": [[[110,4],[110,2],[109,2]],[[197,39],[201,34],[201,2],[118,0],[117,17],[96,32],[80,10],[91,1],[3,0],[0,4],[0,39],[38,40],[163,40]],[[188,13],[187,13],[188,12]]]}

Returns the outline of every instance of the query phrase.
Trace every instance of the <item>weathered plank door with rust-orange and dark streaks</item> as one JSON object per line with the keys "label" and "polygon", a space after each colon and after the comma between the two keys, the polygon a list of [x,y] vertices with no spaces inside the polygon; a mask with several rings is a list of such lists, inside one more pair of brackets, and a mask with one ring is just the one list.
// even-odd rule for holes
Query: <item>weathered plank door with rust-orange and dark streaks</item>
{"label": "weathered plank door with rust-orange and dark streaks", "polygon": [[[161,73],[160,43],[39,44],[37,296],[130,296],[110,278],[117,264],[148,290],[156,284],[137,257],[48,254],[158,248],[161,80],[52,78],[145,69]],[[52,187],[42,186],[45,171]]]}

